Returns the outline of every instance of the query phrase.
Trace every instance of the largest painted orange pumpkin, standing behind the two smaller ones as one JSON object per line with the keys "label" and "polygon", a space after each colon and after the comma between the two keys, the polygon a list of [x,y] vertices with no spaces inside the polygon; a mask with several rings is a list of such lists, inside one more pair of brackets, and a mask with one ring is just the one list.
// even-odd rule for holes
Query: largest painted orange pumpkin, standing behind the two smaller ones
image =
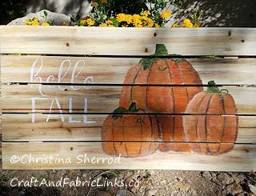
{"label": "largest painted orange pumpkin, standing behind the two smaller ones", "polygon": [[[144,58],[138,65],[131,67],[126,74],[125,84],[143,86],[123,86],[119,106],[128,107],[130,102],[137,102],[139,108],[157,113],[182,114],[187,103],[195,94],[202,91],[202,81],[198,73],[185,59],[159,58],[167,55],[166,47],[156,46],[155,56]],[[171,85],[198,86],[171,86]],[[154,86],[155,85],[155,86]],[[182,118],[176,115],[159,115],[162,130],[160,150],[189,151],[184,142]]]}

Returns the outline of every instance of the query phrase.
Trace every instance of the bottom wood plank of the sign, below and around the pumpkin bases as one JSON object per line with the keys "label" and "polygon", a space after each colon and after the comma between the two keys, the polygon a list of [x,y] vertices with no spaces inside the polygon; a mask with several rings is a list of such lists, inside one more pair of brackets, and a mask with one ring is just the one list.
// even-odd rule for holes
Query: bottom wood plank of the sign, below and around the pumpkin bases
{"label": "bottom wood plank of the sign, below and around the pumpkin bases", "polygon": [[[120,158],[121,163],[108,164],[91,163],[91,158],[110,158],[102,152],[101,142],[15,142],[2,143],[3,170],[67,170],[67,169],[131,169],[131,170],[211,170],[211,171],[253,171],[256,170],[256,146],[235,145],[234,149],[226,154],[207,155],[193,153],[162,153],[156,152],[138,158]],[[54,163],[27,162],[26,155],[31,158],[52,157],[57,158]],[[89,161],[80,162],[77,159],[84,157]],[[10,163],[14,155],[23,158],[26,163]],[[70,158],[70,162],[58,163],[58,158]],[[115,158],[115,157],[111,157]],[[87,159],[88,160],[88,159]],[[102,160],[102,159],[101,159]],[[110,160],[110,159],[109,159]],[[108,159],[106,160],[108,161]]]}

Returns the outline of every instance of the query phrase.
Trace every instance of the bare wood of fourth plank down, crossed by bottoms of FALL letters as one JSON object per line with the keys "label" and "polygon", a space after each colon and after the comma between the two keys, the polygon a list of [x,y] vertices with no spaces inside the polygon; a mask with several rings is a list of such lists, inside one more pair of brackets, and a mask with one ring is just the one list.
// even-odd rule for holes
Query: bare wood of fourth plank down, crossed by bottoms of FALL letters
{"label": "bare wood of fourth plank down, crossed by bottoms of FALL letters", "polygon": [[[46,114],[35,114],[32,123],[31,114],[2,114],[3,141],[105,141],[101,138],[102,124],[107,115],[87,116],[94,123],[83,123],[82,114],[73,114],[72,119],[80,121],[70,123],[68,114],[46,122]],[[177,115],[176,118],[182,118]],[[256,116],[238,118],[238,138],[236,143],[256,143]],[[121,129],[122,127],[120,127]],[[133,135],[134,136],[134,135]],[[153,141],[150,139],[149,141]],[[160,140],[154,140],[159,141]],[[184,141],[186,138],[184,138]],[[194,142],[194,141],[188,141]]]}

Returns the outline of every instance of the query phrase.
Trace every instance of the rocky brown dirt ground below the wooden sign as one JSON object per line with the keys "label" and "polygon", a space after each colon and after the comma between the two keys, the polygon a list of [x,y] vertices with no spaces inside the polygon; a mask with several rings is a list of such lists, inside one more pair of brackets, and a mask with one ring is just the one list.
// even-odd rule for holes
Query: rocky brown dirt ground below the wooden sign
{"label": "rocky brown dirt ground below the wooden sign", "polygon": [[[81,186],[10,186],[14,178],[30,181],[46,179],[57,182],[61,178],[70,181],[99,179],[114,182],[124,180],[139,182],[126,187],[81,187]],[[14,181],[13,181],[14,182]],[[178,170],[1,170],[0,195],[256,195],[256,173],[201,172]]]}

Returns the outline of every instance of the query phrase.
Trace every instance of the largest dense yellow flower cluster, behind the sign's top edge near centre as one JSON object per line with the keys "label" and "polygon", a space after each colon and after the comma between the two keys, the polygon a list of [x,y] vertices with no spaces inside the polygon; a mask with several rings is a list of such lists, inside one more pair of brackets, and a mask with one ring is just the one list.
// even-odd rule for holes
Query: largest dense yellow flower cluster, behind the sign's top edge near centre
{"label": "largest dense yellow flower cluster, behind the sign's top edge near centre", "polygon": [[118,14],[116,19],[118,22],[122,22],[122,26],[126,27],[132,25],[134,27],[152,27],[154,21],[149,18],[150,11],[142,11],[141,14]]}

